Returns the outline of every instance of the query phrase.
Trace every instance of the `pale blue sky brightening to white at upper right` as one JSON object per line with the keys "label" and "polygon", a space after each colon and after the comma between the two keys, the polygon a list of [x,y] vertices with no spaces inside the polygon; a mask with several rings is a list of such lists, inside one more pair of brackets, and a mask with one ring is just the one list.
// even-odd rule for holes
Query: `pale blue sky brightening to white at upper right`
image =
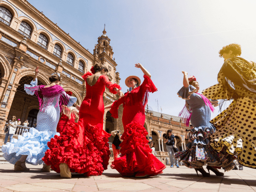
{"label": "pale blue sky brightening to white at upper right", "polygon": [[[256,1],[219,0],[28,0],[84,48],[93,52],[106,24],[123,91],[127,76],[151,73],[158,91],[148,105],[177,116],[185,104],[176,94],[182,70],[196,76],[200,90],[217,84],[223,64],[218,51],[230,43],[242,46],[242,57],[256,61]],[[217,110],[212,114],[216,116]]]}

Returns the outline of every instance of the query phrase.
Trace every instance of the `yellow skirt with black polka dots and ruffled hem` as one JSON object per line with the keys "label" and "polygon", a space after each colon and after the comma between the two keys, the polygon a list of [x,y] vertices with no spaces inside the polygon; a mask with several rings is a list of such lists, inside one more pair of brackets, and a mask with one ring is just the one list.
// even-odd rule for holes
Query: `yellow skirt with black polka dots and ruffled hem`
{"label": "yellow skirt with black polka dots and ruffled hem", "polygon": [[210,145],[237,155],[240,164],[256,169],[256,102],[248,97],[233,100],[211,121],[217,129]]}

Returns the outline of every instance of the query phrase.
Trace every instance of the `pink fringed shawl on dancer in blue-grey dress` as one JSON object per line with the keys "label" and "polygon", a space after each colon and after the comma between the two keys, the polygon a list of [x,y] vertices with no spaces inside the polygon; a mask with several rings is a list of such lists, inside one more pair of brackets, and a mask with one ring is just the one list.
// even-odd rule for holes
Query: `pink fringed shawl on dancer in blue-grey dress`
{"label": "pink fringed shawl on dancer in blue-grey dress", "polygon": [[[196,94],[201,95],[201,98],[204,100],[205,105],[208,106],[212,112],[215,110],[210,100],[207,99],[207,97],[199,93],[196,93]],[[189,109],[188,103],[186,102],[184,108],[179,113],[179,117],[181,117],[182,122],[185,123],[186,126],[189,126],[191,115],[192,115],[192,109]]]}

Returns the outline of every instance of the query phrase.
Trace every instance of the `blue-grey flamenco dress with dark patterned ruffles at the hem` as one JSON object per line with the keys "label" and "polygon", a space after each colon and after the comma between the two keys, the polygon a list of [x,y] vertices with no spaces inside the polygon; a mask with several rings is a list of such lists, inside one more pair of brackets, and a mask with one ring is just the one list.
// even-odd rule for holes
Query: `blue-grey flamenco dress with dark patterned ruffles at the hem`
{"label": "blue-grey flamenco dress with dark patterned ruffles at the hem", "polygon": [[[192,85],[187,88],[183,86],[177,94],[186,100],[182,112],[184,114],[187,110],[189,116],[191,115],[190,122],[194,128],[190,130],[186,149],[176,153],[175,158],[179,158],[189,168],[201,168],[207,164],[228,169],[235,157],[218,153],[208,145],[209,137],[215,132],[214,125],[210,123],[211,109],[214,110],[210,101],[204,95],[196,93],[196,88]],[[189,117],[183,117],[188,124]]]}

